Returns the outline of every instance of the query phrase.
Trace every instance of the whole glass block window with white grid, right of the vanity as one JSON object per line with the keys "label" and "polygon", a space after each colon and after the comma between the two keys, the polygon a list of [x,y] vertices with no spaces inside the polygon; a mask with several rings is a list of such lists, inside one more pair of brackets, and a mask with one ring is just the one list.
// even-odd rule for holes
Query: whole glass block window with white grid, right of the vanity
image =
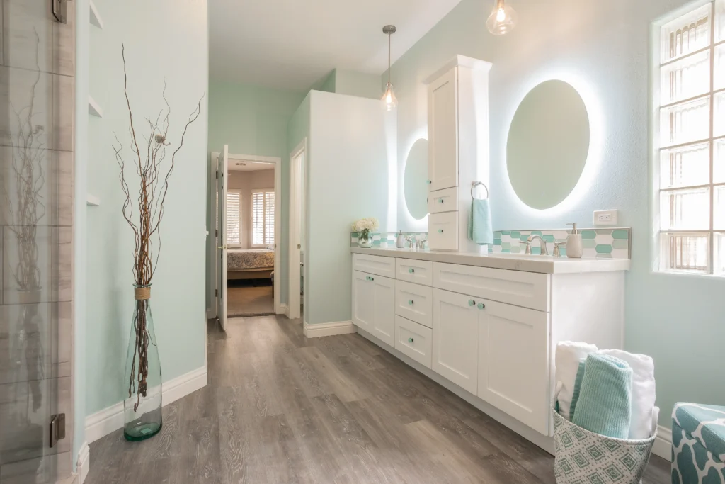
{"label": "whole glass block window with white grid, right of the vanity", "polygon": [[659,65],[659,269],[725,276],[725,0],[663,25]]}

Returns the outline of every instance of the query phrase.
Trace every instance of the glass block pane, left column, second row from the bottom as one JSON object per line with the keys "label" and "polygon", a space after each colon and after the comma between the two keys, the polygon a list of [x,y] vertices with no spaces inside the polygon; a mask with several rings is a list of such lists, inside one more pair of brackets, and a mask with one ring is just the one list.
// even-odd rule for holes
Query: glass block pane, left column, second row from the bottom
{"label": "glass block pane, left column, second row from the bottom", "polygon": [[710,229],[710,189],[660,192],[662,230]]}

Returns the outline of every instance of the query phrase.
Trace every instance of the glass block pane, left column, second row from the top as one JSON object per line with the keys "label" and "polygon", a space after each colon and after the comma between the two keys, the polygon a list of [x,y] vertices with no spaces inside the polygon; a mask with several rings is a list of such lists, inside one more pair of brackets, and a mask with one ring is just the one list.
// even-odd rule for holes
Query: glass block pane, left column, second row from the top
{"label": "glass block pane, left column, second row from the top", "polygon": [[660,70],[662,104],[682,101],[710,91],[710,51],[685,57]]}

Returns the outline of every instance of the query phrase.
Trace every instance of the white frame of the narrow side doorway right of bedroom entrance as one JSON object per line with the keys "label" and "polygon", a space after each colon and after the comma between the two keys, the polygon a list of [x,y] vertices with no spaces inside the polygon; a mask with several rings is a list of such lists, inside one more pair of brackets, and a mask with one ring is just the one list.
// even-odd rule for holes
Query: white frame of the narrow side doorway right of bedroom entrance
{"label": "white frame of the narrow side doorway right of bedroom entrance", "polygon": [[[297,166],[297,163],[295,160],[299,155],[302,153],[305,154],[305,167],[307,165],[307,136],[305,136],[305,139],[302,139],[302,141],[299,142],[297,147],[295,147],[292,152],[289,154],[289,247],[287,247],[287,255],[289,259],[289,267],[287,268],[288,271],[288,277],[287,280],[289,282],[289,289],[287,292],[287,307],[286,307],[286,316],[289,319],[298,319],[300,315],[300,305],[302,304],[302,301],[299,298],[299,292],[301,290],[300,283],[299,283],[299,277],[293,277],[292,274],[297,274],[299,271],[299,264],[303,263],[302,258],[299,258],[299,256],[293,256],[293,254],[299,254],[299,251],[297,249],[297,245],[302,244],[302,241],[299,238],[299,234],[302,231],[302,224],[304,224],[305,220],[298,220],[299,218],[299,207],[296,205],[299,202],[300,197],[305,197],[307,194],[306,186],[302,186],[302,193],[298,193],[297,187],[299,186],[298,179],[299,179],[299,167]],[[303,169],[302,173],[305,173],[305,185],[306,183],[306,176],[307,176],[307,170]],[[305,204],[305,207],[307,204]],[[307,231],[305,231],[307,233]],[[303,274],[305,282],[307,282],[307,265],[303,266]],[[306,284],[305,284],[306,285]],[[305,294],[307,294],[307,291],[305,291]]]}

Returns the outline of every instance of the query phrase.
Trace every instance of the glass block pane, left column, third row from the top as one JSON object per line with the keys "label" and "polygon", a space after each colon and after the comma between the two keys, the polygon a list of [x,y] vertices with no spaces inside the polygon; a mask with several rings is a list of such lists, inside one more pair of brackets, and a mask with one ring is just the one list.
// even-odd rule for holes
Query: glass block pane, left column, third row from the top
{"label": "glass block pane, left column, third row from the top", "polygon": [[660,110],[662,146],[689,143],[710,137],[710,97]]}

